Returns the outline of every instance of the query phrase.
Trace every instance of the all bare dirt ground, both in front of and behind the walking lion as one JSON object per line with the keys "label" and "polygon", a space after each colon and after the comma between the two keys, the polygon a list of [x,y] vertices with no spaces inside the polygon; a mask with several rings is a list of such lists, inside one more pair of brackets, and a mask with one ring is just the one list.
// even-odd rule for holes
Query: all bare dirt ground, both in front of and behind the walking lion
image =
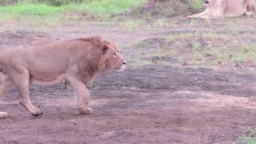
{"label": "all bare dirt ground, both in front of and behind the walking lion", "polygon": [[[255,27],[254,18],[234,21],[237,31],[255,34],[250,31],[250,26]],[[198,21],[198,25],[190,26],[183,18],[170,22],[173,25],[157,31],[129,31],[122,26],[88,22],[86,27],[52,27],[50,34],[19,25],[11,26],[14,32],[2,24],[0,46],[10,48],[97,34],[118,42],[122,48],[128,47],[122,52],[129,62],[138,58],[138,50],[131,45],[138,40],[194,30],[225,34],[232,25],[230,21],[214,21],[210,25]],[[92,115],[79,115],[72,90],[59,84],[31,86],[32,102],[44,111],[34,118],[18,104],[14,90],[0,102],[0,110],[12,114],[0,120],[0,143],[230,144],[256,126],[254,69],[211,70],[177,66],[171,58],[166,61],[167,64],[128,66],[122,73],[98,78],[91,88],[91,107],[95,110]]]}

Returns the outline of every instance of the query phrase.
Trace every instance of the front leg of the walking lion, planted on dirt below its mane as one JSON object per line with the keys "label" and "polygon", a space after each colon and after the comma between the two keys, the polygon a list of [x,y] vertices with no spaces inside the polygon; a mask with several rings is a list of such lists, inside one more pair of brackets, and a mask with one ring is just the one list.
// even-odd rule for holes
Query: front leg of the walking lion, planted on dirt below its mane
{"label": "front leg of the walking lion, planted on dirt below its mane", "polygon": [[70,86],[77,97],[78,111],[81,114],[93,114],[94,110],[90,108],[90,90],[77,78],[68,78]]}

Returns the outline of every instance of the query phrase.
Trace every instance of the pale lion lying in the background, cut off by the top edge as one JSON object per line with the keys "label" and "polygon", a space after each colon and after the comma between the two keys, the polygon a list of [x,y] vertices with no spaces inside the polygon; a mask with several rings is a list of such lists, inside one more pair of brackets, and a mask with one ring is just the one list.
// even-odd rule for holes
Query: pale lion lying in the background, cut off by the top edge
{"label": "pale lion lying in the background, cut off by the top edge", "polygon": [[255,11],[255,0],[206,0],[206,10],[190,15],[187,18],[224,18],[252,15]]}

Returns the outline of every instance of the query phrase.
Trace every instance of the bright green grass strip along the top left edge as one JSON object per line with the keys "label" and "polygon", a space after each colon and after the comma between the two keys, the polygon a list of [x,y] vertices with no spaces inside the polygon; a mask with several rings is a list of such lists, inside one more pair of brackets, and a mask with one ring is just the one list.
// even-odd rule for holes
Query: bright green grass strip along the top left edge
{"label": "bright green grass strip along the top left edge", "polygon": [[88,11],[91,14],[118,14],[140,6],[143,2],[146,0],[101,0],[85,1],[79,5],[75,2],[66,2],[62,6],[53,6],[44,2],[24,1],[11,6],[0,6],[0,14],[50,16],[69,10]]}

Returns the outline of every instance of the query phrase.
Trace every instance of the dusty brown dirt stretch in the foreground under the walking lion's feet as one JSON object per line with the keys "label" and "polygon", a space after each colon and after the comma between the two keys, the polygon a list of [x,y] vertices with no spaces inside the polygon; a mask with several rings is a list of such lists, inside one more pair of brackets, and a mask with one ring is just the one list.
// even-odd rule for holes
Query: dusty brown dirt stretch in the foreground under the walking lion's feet
{"label": "dusty brown dirt stretch in the foreground under the walking lion's feet", "polygon": [[[78,115],[71,90],[33,87],[45,114],[32,118],[14,92],[1,110],[2,142],[231,143],[256,125],[254,74],[146,66],[99,78],[94,115]],[[250,91],[250,93],[248,91]],[[245,92],[244,92],[245,91]],[[244,93],[242,93],[244,92]]]}

